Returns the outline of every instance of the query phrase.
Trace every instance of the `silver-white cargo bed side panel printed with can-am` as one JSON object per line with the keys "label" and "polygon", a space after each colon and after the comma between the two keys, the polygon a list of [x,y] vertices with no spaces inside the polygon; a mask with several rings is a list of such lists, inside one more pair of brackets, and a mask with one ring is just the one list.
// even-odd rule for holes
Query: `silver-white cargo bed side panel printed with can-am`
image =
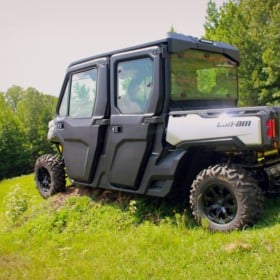
{"label": "silver-white cargo bed side panel printed with can-am", "polygon": [[236,137],[246,145],[261,145],[261,119],[226,115],[204,118],[198,114],[169,117],[166,141],[172,145],[227,137]]}

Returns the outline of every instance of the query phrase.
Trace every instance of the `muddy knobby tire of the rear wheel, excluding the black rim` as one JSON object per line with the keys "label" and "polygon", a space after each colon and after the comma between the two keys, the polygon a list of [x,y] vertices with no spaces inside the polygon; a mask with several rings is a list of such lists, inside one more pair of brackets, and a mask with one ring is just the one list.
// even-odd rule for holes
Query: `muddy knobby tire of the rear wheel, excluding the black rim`
{"label": "muddy knobby tire of the rear wheel, excluding the black rim", "polygon": [[203,195],[203,183],[207,179],[213,178],[224,180],[233,186],[239,209],[234,221],[222,226],[209,221],[208,228],[212,231],[231,231],[254,224],[262,210],[262,191],[249,172],[243,168],[226,164],[210,166],[202,170],[194,180],[190,193],[190,205],[195,220],[200,224],[202,219],[205,218],[205,213],[202,213],[202,209],[199,207],[199,199]]}

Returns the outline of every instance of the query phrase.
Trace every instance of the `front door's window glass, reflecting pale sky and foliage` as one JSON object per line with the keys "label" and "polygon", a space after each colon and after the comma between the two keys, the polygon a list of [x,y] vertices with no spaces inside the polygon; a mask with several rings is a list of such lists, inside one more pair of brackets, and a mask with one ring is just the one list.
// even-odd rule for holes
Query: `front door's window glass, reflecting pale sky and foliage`
{"label": "front door's window glass, reflecting pale sky and foliage", "polygon": [[69,107],[70,117],[90,118],[92,116],[96,99],[96,81],[97,69],[95,68],[72,75]]}

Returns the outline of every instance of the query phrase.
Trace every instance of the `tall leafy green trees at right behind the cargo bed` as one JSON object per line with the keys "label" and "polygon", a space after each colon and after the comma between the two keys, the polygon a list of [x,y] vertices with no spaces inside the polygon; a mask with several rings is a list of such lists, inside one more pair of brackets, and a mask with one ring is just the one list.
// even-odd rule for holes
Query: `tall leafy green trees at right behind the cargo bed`
{"label": "tall leafy green trees at right behind the cargo bed", "polygon": [[280,104],[278,0],[208,2],[205,37],[240,50],[240,105]]}

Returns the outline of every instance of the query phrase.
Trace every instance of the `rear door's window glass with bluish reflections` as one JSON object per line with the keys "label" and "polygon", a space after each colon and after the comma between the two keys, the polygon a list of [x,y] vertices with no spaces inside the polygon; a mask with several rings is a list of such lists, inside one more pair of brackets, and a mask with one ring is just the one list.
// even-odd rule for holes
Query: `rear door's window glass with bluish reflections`
{"label": "rear door's window glass with bluish reflections", "polygon": [[153,60],[140,58],[117,65],[117,107],[123,114],[144,113],[153,87]]}

